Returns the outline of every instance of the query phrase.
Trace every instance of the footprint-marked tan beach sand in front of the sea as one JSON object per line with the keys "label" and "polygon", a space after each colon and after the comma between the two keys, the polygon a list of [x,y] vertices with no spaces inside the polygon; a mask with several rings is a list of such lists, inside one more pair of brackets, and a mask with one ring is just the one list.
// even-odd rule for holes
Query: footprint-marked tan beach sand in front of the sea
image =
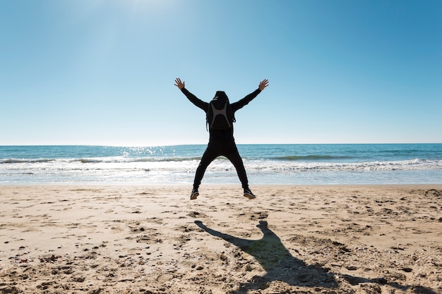
{"label": "footprint-marked tan beach sand in front of the sea", "polygon": [[442,185],[0,186],[0,293],[442,293]]}

